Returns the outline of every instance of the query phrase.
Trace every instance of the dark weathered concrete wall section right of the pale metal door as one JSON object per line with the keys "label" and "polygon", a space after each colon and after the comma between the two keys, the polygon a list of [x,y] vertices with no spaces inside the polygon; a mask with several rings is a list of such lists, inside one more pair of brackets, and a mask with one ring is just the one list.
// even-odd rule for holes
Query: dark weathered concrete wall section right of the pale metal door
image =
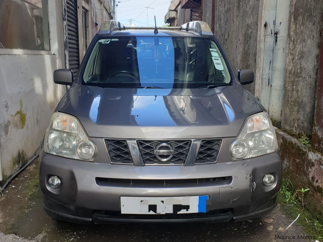
{"label": "dark weathered concrete wall section right of the pale metal door", "polygon": [[322,0],[291,0],[281,127],[295,133],[312,134],[322,19]]}

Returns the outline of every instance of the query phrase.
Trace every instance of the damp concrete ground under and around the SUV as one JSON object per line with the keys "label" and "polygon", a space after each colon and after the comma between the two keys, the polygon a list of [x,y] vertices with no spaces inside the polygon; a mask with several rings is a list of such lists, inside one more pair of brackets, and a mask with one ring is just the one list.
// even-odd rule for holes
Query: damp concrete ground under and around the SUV
{"label": "damp concrete ground under and around the SUV", "polygon": [[[38,158],[20,173],[0,198],[0,241],[315,241],[279,209],[261,219],[218,224],[80,225],[46,215],[38,185]],[[279,239],[276,236],[295,236]]]}

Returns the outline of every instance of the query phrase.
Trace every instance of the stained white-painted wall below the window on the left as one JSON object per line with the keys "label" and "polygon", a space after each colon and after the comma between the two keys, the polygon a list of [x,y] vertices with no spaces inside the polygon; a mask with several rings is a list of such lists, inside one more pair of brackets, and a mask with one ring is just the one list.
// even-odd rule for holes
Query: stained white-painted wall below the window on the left
{"label": "stained white-painted wall below the window on the left", "polygon": [[53,83],[65,66],[61,1],[48,1],[48,10],[51,51],[0,50],[0,185],[38,149],[66,91]]}

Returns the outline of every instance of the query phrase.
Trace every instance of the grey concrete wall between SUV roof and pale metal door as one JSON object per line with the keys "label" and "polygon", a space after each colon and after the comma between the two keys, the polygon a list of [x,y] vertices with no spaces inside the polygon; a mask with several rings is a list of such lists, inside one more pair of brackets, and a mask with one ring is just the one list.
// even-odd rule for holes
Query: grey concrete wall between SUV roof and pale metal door
{"label": "grey concrete wall between SUV roof and pale metal door", "polygon": [[[236,73],[238,69],[256,71],[258,10],[259,1],[255,0],[216,1],[214,34]],[[245,89],[254,94],[255,83]]]}

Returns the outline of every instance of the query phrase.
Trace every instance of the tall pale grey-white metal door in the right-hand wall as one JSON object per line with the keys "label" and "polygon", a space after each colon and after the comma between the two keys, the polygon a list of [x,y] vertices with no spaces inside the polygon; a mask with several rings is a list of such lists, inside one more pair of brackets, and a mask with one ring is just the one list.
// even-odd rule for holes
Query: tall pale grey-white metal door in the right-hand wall
{"label": "tall pale grey-white metal door in the right-hand wall", "polygon": [[290,0],[264,1],[259,100],[276,126],[283,107],[289,5]]}

